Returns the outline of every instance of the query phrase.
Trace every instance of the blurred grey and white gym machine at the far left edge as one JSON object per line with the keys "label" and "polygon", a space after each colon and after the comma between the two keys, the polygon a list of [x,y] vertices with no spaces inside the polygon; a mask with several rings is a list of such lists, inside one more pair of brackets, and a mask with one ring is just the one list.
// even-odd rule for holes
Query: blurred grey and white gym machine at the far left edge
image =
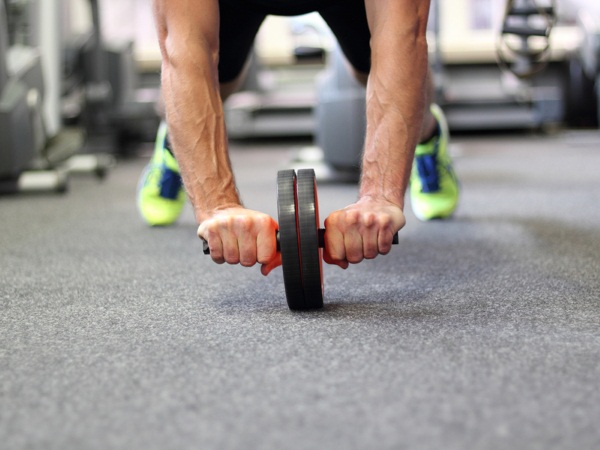
{"label": "blurred grey and white gym machine at the far left edge", "polygon": [[59,46],[56,29],[41,37],[45,30],[39,19],[41,8],[52,13],[55,6],[49,0],[0,2],[1,193],[64,192],[69,173],[91,171],[102,177],[111,163],[102,155],[78,154],[84,132],[62,127],[59,91],[46,89],[56,86],[60,75],[58,67],[46,73],[43,59],[60,60]]}

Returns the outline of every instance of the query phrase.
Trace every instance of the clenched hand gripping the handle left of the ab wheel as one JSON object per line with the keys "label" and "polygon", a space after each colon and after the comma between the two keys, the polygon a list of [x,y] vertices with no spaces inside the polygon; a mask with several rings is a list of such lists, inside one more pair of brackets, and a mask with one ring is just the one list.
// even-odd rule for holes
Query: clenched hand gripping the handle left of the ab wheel
{"label": "clenched hand gripping the handle left of the ab wheel", "polygon": [[210,255],[218,264],[262,264],[268,275],[281,265],[277,252],[277,222],[267,214],[242,207],[216,210],[198,227],[198,236],[208,242]]}

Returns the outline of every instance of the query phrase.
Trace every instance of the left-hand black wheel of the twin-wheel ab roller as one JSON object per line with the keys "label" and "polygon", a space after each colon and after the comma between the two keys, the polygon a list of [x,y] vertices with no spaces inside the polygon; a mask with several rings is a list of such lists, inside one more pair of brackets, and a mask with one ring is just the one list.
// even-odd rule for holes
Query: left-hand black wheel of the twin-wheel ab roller
{"label": "left-hand black wheel of the twin-wheel ab roller", "polygon": [[294,170],[281,170],[277,173],[279,247],[285,296],[288,306],[292,310],[306,309],[296,211],[296,172]]}

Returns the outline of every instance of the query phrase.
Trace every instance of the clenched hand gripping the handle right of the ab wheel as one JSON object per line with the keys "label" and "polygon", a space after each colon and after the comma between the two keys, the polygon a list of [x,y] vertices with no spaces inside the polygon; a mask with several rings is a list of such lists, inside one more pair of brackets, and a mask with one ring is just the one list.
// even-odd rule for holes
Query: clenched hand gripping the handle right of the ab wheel
{"label": "clenched hand gripping the handle right of the ab wheel", "polygon": [[325,220],[325,262],[346,269],[349,264],[385,255],[405,223],[398,205],[363,197]]}

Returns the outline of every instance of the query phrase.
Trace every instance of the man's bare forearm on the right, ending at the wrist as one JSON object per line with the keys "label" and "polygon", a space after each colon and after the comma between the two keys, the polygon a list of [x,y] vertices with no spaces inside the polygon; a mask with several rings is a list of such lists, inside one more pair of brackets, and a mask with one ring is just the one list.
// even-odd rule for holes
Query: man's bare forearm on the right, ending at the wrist
{"label": "man's bare forearm on the right, ending at the wrist", "polygon": [[[427,2],[410,1],[409,7],[399,3],[405,2],[394,5],[403,8],[402,14],[370,11],[372,65],[360,195],[385,199],[403,208],[426,106],[425,28],[429,8]],[[387,20],[375,17],[384,14]]]}

